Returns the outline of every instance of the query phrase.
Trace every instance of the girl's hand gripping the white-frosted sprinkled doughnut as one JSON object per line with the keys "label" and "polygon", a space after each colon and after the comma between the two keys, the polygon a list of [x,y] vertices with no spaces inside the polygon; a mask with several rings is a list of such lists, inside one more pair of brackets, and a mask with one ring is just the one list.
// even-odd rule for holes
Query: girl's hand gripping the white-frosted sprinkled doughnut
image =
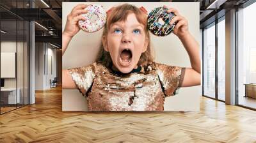
{"label": "girl's hand gripping the white-frosted sprinkled doughnut", "polygon": [[75,6],[72,11],[67,16],[67,22],[65,29],[63,31],[63,35],[68,36],[69,38],[72,38],[78,31],[80,30],[79,26],[77,25],[77,22],[79,20],[86,20],[81,14],[87,13],[87,10],[84,10],[86,8],[86,4],[78,4]]}

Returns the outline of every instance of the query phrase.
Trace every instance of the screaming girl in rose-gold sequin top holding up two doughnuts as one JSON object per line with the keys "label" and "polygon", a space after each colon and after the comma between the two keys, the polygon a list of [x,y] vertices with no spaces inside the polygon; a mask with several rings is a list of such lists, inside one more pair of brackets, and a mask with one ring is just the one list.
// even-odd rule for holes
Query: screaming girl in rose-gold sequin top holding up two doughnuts
{"label": "screaming girl in rose-gold sequin top holding up two doughnuts", "polygon": [[[79,31],[77,22],[85,4],[73,8],[63,31],[63,53]],[[122,4],[108,11],[97,61],[63,70],[63,89],[75,89],[88,98],[89,111],[163,111],[164,98],[179,87],[200,84],[199,45],[188,31],[187,20],[174,8],[170,24],[188,52],[192,68],[155,63],[143,8]]]}

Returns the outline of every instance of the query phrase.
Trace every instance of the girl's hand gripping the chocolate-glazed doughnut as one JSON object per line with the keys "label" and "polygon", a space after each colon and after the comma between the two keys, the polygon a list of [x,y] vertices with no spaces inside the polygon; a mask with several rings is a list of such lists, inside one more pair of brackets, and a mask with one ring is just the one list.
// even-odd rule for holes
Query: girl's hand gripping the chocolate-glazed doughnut
{"label": "girl's hand gripping the chocolate-glazed doughnut", "polygon": [[[168,8],[164,6],[165,8]],[[167,13],[173,12],[176,16],[170,21],[170,25],[176,23],[173,33],[177,35],[179,38],[189,33],[188,31],[188,20],[185,17],[182,17],[178,10],[175,8],[168,8]]]}

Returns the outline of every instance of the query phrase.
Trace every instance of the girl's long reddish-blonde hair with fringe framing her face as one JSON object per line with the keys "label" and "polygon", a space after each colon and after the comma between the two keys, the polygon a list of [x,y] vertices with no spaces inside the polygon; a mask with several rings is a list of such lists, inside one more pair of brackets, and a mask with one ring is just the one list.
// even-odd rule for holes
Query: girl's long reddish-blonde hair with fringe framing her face
{"label": "girl's long reddish-blonde hair with fringe framing her face", "polygon": [[[108,19],[104,27],[102,37],[108,35],[108,29],[110,28],[111,24],[118,21],[125,21],[130,13],[134,13],[136,15],[136,19],[138,20],[138,22],[140,22],[140,24],[143,24],[145,34],[148,38],[147,50],[141,54],[140,60],[138,61],[138,65],[143,66],[145,64],[152,63],[154,61],[154,51],[150,47],[150,34],[147,29],[147,15],[139,8],[131,4],[122,4],[120,6],[113,8],[113,10],[110,12],[111,14],[108,15]],[[104,64],[105,66],[109,66],[112,63],[109,52],[104,50],[103,43],[101,43],[100,51],[96,61],[102,62],[102,64]]]}

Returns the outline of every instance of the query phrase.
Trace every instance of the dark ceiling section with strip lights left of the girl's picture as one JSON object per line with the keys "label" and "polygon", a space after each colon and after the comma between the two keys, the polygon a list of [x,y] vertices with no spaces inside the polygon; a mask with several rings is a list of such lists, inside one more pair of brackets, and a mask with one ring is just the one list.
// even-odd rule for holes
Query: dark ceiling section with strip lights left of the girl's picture
{"label": "dark ceiling section with strip lights left of the girl's picture", "polygon": [[[30,0],[30,3],[28,0],[1,0],[1,29],[8,32],[1,36],[1,39],[16,40],[18,38],[18,40],[22,40],[22,36],[26,35],[24,33],[28,31],[28,28],[24,27],[28,24],[23,24],[23,22],[35,20],[36,42],[44,41],[61,47],[62,1],[44,0],[44,2],[48,6],[40,0]],[[16,20],[17,24],[13,22]]]}

